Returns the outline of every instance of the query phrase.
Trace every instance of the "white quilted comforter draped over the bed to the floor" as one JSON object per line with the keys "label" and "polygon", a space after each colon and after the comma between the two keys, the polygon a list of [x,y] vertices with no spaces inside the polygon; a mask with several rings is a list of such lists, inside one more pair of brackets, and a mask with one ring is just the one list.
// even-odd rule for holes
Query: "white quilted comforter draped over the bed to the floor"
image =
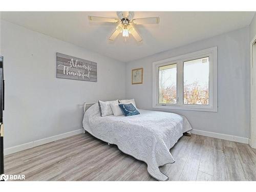
{"label": "white quilted comforter draped over the bed to the floor", "polygon": [[101,117],[96,103],[84,113],[83,128],[102,141],[116,144],[123,153],[146,162],[148,173],[155,179],[168,180],[159,166],[175,162],[169,149],[192,128],[185,117],[175,113],[141,109],[139,112],[128,117]]}

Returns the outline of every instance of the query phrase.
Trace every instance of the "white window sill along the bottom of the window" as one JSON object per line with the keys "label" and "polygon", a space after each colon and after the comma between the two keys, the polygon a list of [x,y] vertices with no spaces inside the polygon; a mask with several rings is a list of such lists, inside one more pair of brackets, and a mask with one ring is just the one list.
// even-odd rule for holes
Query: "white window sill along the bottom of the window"
{"label": "white window sill along the bottom of the window", "polygon": [[204,111],[204,112],[217,112],[216,108],[203,107],[203,106],[174,106],[174,105],[153,105],[155,109],[166,110],[185,110],[185,111]]}

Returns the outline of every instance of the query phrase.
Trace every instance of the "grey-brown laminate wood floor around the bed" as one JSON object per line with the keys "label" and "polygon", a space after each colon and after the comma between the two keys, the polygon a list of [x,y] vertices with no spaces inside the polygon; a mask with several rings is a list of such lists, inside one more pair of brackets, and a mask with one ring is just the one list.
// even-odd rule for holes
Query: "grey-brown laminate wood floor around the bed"
{"label": "grey-brown laminate wood floor around the bed", "polygon": [[[256,150],[247,144],[192,135],[170,152],[175,163],[160,167],[170,181],[256,180]],[[144,162],[89,133],[7,155],[5,173],[33,181],[156,181]]]}

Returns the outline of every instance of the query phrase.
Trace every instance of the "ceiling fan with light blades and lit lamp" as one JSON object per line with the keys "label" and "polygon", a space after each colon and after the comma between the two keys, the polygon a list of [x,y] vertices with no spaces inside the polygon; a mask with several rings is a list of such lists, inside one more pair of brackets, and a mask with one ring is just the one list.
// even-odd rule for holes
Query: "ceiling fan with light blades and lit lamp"
{"label": "ceiling fan with light blades and lit lamp", "polygon": [[129,37],[129,34],[132,34],[137,42],[142,41],[142,38],[136,31],[135,25],[159,24],[160,22],[160,17],[133,18],[133,16],[133,12],[123,11],[118,13],[119,18],[88,16],[88,19],[94,22],[118,23],[116,30],[109,37],[109,40],[115,40],[122,33],[125,40],[126,37]]}

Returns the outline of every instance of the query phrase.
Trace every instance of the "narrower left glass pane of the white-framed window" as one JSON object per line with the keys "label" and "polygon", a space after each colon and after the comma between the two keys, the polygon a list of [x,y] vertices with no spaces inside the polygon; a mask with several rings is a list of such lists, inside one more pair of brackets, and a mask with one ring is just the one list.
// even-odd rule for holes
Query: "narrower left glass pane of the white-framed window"
{"label": "narrower left glass pane of the white-framed window", "polygon": [[177,101],[177,64],[159,67],[159,103]]}

